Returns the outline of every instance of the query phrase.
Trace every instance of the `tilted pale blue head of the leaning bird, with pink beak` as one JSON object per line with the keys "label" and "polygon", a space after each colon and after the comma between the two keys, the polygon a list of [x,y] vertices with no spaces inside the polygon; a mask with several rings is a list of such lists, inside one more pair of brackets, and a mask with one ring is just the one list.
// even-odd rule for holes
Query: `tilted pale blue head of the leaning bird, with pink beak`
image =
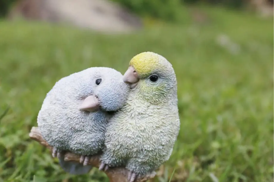
{"label": "tilted pale blue head of the leaning bird, with pink beak", "polygon": [[86,84],[81,88],[83,102],[80,110],[90,112],[99,108],[105,111],[119,110],[127,100],[129,85],[123,75],[112,68],[94,67],[85,75]]}

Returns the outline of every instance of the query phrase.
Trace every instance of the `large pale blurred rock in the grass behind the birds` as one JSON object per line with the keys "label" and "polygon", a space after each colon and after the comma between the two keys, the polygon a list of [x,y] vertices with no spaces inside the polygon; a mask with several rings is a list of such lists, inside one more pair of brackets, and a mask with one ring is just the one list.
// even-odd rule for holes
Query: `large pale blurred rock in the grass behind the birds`
{"label": "large pale blurred rock in the grass behind the birds", "polygon": [[23,17],[66,23],[102,32],[128,32],[142,27],[141,19],[107,0],[20,0],[9,18]]}

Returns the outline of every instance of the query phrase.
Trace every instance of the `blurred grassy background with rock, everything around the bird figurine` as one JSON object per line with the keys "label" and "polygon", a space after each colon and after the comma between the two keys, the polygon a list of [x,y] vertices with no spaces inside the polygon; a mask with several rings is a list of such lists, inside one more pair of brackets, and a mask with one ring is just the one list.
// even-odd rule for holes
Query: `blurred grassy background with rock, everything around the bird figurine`
{"label": "blurred grassy background with rock, everything around the bird figurine", "polygon": [[107,182],[66,174],[29,139],[46,93],[138,53],[178,79],[180,134],[151,182],[273,181],[273,1],[0,0],[0,182]]}

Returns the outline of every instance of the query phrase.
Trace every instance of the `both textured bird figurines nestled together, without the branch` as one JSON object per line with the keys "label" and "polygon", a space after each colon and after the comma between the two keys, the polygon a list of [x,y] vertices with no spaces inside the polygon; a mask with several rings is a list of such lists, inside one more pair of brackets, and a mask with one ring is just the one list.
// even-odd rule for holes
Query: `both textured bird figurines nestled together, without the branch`
{"label": "both textured bird figurines nestled together, without the branch", "polygon": [[[64,77],[46,95],[38,127],[66,172],[88,173],[89,156],[102,152],[100,170],[124,166],[133,182],[169,159],[178,136],[172,64],[144,52],[124,75],[91,67]],[[63,151],[80,154],[80,163],[64,161]]]}

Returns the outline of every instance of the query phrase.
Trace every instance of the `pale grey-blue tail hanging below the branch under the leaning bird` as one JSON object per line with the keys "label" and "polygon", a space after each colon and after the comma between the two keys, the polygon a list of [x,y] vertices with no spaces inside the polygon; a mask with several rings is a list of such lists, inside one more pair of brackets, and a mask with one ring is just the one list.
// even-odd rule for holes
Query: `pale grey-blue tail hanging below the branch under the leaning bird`
{"label": "pale grey-blue tail hanging below the branch under the leaning bird", "polygon": [[68,162],[64,160],[64,157],[59,158],[59,164],[63,168],[64,171],[73,174],[73,175],[82,175],[87,174],[92,166],[83,166],[83,164],[77,162]]}

